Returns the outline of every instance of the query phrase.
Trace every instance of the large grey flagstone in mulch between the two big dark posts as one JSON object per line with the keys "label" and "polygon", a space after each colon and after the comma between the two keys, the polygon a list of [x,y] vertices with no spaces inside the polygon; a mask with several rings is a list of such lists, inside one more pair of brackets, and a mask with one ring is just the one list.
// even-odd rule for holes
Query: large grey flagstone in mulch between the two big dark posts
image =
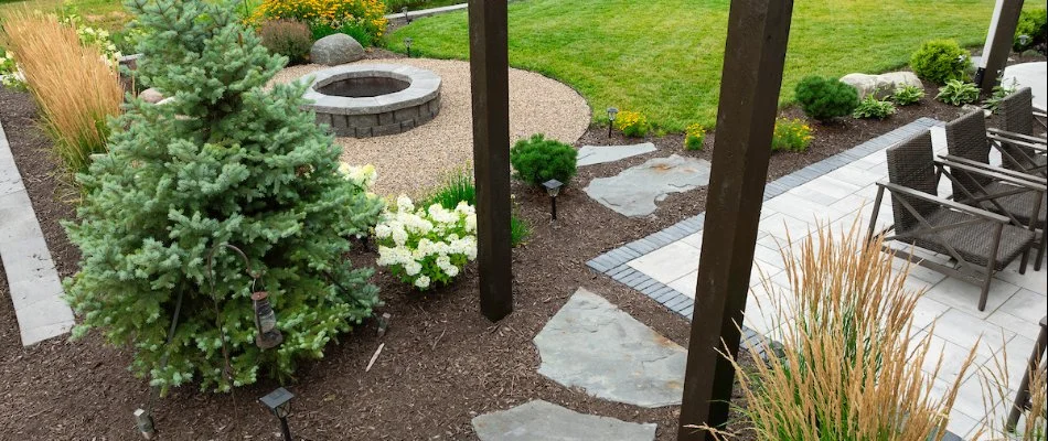
{"label": "large grey flagstone in mulch between the two big dark posts", "polygon": [[565,387],[646,408],[681,404],[687,351],[584,288],[534,341],[538,373]]}

